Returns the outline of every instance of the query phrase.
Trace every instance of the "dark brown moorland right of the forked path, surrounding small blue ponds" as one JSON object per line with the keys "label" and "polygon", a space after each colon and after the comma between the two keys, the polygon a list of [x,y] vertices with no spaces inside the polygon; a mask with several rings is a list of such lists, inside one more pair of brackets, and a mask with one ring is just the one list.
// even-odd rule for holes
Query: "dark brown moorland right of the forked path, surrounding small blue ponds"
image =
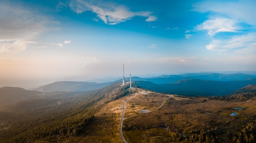
{"label": "dark brown moorland right of the forked path, surrounding small blue ponds", "polygon": [[[205,102],[200,102],[206,99]],[[201,131],[211,127],[223,129],[224,134],[218,135],[220,140],[229,141],[228,133],[233,133],[244,124],[255,121],[255,118],[248,118],[256,113],[256,102],[225,102],[221,100],[208,100],[208,98],[182,98],[175,97],[168,99],[167,103],[151,113],[136,116],[124,121],[123,134],[129,142],[147,142],[152,136],[161,135],[164,130],[170,133],[184,133],[189,136],[192,130]],[[242,110],[227,110],[226,107],[245,108]],[[236,118],[230,116],[237,113]],[[216,125],[210,123],[215,119]],[[125,131],[127,130],[127,131]],[[153,134],[158,132],[159,135]]]}

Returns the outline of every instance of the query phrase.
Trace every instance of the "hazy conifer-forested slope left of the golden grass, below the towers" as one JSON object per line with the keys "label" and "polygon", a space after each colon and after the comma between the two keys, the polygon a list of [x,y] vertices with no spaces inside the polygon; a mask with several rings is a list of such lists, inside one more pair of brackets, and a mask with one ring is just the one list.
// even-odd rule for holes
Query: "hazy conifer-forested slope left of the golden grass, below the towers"
{"label": "hazy conifer-forested slope left of the golden grass, below the towers", "polygon": [[114,83],[91,92],[54,92],[6,105],[0,112],[0,142],[73,142],[94,121],[95,112],[127,93],[128,86]]}

